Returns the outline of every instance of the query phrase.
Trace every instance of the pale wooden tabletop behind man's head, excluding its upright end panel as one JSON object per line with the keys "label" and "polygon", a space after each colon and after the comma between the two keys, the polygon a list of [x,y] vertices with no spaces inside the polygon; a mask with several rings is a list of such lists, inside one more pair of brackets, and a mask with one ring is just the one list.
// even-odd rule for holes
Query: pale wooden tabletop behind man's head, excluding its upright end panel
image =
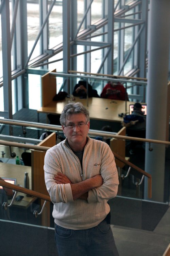
{"label": "pale wooden tabletop behind man's head, excluding its upright end panel", "polygon": [[[118,114],[125,113],[125,101],[120,100],[109,100],[102,98],[89,98],[88,107],[87,99],[80,99],[79,97],[74,97],[75,101],[81,102],[89,111],[90,119],[104,120],[104,121],[114,121],[121,122],[122,117],[118,117]],[[47,114],[57,114],[60,115],[64,106],[71,102],[70,98],[66,98],[63,101],[51,101],[46,106],[41,107],[37,110],[37,113],[47,113]],[[127,110],[129,111],[129,105],[134,104],[134,102],[127,102]],[[39,121],[39,115],[38,115]]]}

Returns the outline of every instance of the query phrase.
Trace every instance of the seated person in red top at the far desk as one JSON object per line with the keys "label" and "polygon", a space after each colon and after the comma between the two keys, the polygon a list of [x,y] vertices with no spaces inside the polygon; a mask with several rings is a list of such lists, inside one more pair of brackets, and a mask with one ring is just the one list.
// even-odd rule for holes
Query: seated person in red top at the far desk
{"label": "seated person in red top at the far desk", "polygon": [[[117,79],[116,76],[114,76],[114,78]],[[124,86],[120,82],[108,81],[108,83],[103,88],[100,97],[105,99],[122,101],[125,101],[125,97],[127,97],[126,100],[128,100],[128,94],[126,93]]]}

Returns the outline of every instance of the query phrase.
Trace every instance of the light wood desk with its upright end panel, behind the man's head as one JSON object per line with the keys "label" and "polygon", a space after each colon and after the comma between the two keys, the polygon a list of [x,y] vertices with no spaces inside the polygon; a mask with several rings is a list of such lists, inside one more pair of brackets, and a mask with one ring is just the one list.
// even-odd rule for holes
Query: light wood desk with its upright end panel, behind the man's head
{"label": "light wood desk with its upright end panel, behind the man's head", "polygon": [[[92,97],[88,98],[88,106],[87,99],[80,99],[79,97],[74,97],[74,100],[72,97],[66,97],[62,101],[53,101],[52,99],[56,95],[56,77],[50,72],[41,77],[41,86],[42,107],[37,110],[38,121],[39,113],[61,115],[64,106],[69,102],[81,102],[89,110],[90,119],[119,123],[123,119],[118,115],[125,113],[125,101]],[[134,104],[134,102],[127,102],[127,109],[129,109],[130,104]]]}

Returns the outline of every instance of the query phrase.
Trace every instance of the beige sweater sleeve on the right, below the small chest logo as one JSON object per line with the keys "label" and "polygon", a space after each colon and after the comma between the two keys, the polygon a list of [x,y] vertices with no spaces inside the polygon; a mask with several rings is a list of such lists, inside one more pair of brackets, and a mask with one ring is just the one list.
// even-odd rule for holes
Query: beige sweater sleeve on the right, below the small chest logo
{"label": "beige sweater sleeve on the right, below the small chest logo", "polygon": [[108,200],[117,195],[119,185],[118,172],[114,155],[109,146],[105,147],[102,153],[100,174],[103,178],[103,184],[88,192],[88,203],[102,202],[103,199]]}

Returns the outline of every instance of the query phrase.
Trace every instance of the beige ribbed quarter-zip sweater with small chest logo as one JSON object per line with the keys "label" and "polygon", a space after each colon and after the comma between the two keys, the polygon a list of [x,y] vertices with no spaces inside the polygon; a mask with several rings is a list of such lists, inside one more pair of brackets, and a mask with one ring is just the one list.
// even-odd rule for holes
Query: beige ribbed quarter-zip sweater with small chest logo
{"label": "beige ribbed quarter-zip sweater with small chest logo", "polygon": [[[45,182],[54,204],[54,221],[64,228],[87,229],[97,226],[110,211],[108,199],[117,195],[118,173],[111,149],[103,141],[87,139],[83,170],[78,157],[66,146],[67,139],[47,150],[45,155]],[[103,184],[88,192],[87,201],[73,201],[70,184],[55,183],[53,178],[57,172],[65,174],[72,183],[101,174]]]}

